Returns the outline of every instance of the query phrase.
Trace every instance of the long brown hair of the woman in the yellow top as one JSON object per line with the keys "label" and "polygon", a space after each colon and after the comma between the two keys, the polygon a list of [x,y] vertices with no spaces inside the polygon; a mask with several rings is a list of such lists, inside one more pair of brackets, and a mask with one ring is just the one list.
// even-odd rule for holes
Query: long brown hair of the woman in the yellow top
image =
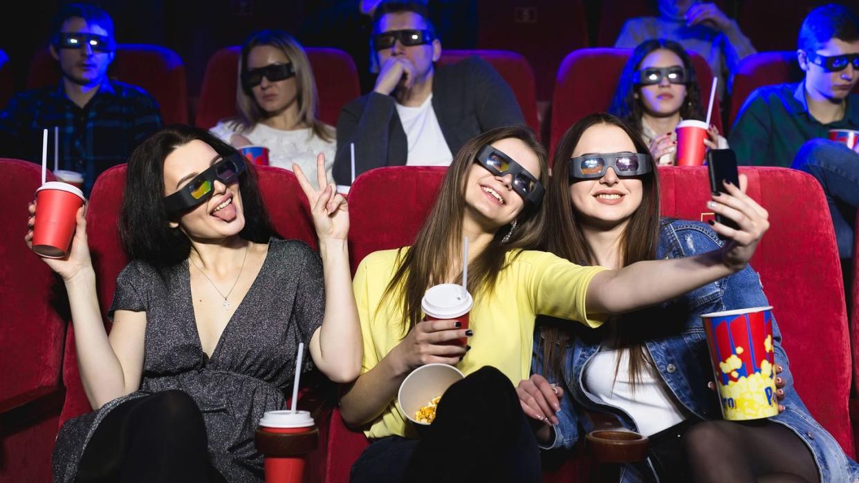
{"label": "long brown hair of the woman in the yellow top", "polygon": [[[436,204],[417,232],[414,245],[408,251],[400,249],[399,265],[382,296],[382,300],[388,297],[402,300],[404,334],[423,317],[423,293],[427,288],[447,282],[448,270],[457,264],[462,219],[466,213],[466,180],[478,151],[487,144],[510,138],[521,140],[537,154],[539,181],[544,186],[549,183],[545,148],[537,141],[533,130],[525,126],[496,128],[466,142],[448,168]],[[537,245],[545,229],[545,210],[526,203],[516,220],[517,226],[507,243],[502,243],[502,238],[510,231],[510,225],[502,226],[484,251],[469,261],[468,287],[473,290],[475,299],[490,292],[495,285],[508,251]]]}

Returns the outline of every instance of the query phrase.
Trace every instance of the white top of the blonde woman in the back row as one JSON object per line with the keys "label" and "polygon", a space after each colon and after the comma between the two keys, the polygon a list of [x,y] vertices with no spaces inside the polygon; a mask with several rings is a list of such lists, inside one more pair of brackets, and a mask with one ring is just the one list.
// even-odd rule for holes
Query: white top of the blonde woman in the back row
{"label": "white top of the blonde woman in the back row", "polygon": [[[237,131],[230,127],[231,123],[220,122],[211,129],[212,134],[220,137],[224,142],[229,142],[230,136]],[[326,142],[314,135],[310,128],[301,130],[277,130],[257,123],[251,130],[239,132],[241,136],[247,137],[251,144],[269,148],[269,166],[282,167],[292,171],[292,163],[301,166],[304,175],[308,177],[314,188],[319,188],[316,183],[316,154],[325,154],[326,178],[331,183],[334,178],[331,168],[334,166],[334,154],[337,152],[334,141],[334,130],[332,130],[332,141]]]}

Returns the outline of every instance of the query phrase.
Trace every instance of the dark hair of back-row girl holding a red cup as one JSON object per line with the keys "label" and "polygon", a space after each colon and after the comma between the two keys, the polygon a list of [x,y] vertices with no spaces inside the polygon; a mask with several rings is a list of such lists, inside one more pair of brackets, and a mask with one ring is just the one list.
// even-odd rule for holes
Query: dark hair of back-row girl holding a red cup
{"label": "dark hair of back-row girl holding a red cup", "polygon": [[[639,44],[630,59],[626,61],[624,70],[620,74],[620,82],[618,88],[614,91],[614,99],[608,112],[624,120],[626,124],[630,124],[635,130],[642,130],[642,100],[636,99],[635,94],[640,89],[636,87],[638,76],[636,71],[641,67],[644,57],[647,57],[650,52],[666,49],[673,51],[683,61],[683,67],[689,75],[686,81],[686,99],[680,106],[680,117],[684,119],[704,120],[704,106],[701,105],[701,94],[698,89],[698,80],[695,76],[695,67],[692,65],[689,54],[673,40],[666,39],[649,39]],[[643,151],[649,153],[649,151]]]}

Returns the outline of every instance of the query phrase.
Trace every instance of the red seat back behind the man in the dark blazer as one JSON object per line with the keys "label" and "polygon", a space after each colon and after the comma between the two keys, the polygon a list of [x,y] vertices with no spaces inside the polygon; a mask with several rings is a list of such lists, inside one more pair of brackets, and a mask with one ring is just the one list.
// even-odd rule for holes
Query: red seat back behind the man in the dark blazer
{"label": "red seat back behind the man in the dark blazer", "polygon": [[513,94],[516,94],[516,101],[519,102],[525,122],[539,134],[534,72],[526,58],[508,51],[442,51],[442,58],[439,59],[438,64],[457,63],[470,56],[484,59],[498,71],[498,74],[501,74],[504,81],[513,89]]}

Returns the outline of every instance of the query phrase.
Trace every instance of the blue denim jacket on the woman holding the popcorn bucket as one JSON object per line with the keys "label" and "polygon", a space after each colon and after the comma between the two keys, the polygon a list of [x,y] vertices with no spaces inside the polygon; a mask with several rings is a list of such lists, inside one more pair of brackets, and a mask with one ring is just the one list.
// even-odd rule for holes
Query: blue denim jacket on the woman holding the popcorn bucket
{"label": "blue denim jacket on the woman holding the popcorn bucket", "polygon": [[[658,258],[689,257],[715,250],[721,245],[722,241],[716,232],[704,223],[665,220],[656,255]],[[704,325],[698,316],[715,311],[765,305],[768,305],[767,299],[758,274],[751,267],[746,267],[734,275],[699,287],[652,311],[659,317],[659,320],[651,322],[658,332],[645,342],[646,350],[659,376],[687,413],[700,420],[722,418],[718,398],[707,387],[707,383],[713,380],[713,372],[707,352]],[[775,321],[772,327],[776,363],[783,366],[779,376],[785,381],[785,397],[782,401],[785,410],[771,420],[788,427],[807,444],[819,468],[820,481],[859,480],[859,466],[844,455],[838,442],[813,419],[796,394],[788,358],[781,344],[782,335]],[[563,384],[566,393],[561,400],[561,412],[557,415],[560,422],[553,428],[554,440],[543,449],[569,449],[581,435],[590,432],[594,425],[588,419],[586,411],[615,414],[625,427],[637,431],[635,421],[629,414],[620,408],[607,405],[585,388],[585,366],[600,350],[600,341],[604,335],[603,329],[573,329],[570,342],[564,350],[564,380],[551,381]],[[532,370],[548,375],[548,371],[542,370],[542,343],[542,335],[534,338]],[[645,479],[638,473],[637,468],[624,465],[620,480],[635,482]]]}

